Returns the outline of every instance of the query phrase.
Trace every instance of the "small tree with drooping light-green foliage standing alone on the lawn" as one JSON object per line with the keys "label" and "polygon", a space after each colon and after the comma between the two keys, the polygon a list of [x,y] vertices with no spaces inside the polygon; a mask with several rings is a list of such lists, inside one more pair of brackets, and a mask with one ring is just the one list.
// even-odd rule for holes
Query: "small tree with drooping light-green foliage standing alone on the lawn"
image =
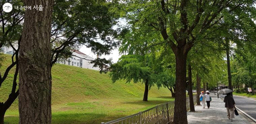
{"label": "small tree with drooping light-green foliage standing alone on the lawn", "polygon": [[145,84],[143,101],[148,101],[149,88],[152,86],[150,75],[152,70],[147,66],[145,56],[122,55],[119,61],[110,66],[110,77],[113,82],[124,79],[126,83],[142,82]]}

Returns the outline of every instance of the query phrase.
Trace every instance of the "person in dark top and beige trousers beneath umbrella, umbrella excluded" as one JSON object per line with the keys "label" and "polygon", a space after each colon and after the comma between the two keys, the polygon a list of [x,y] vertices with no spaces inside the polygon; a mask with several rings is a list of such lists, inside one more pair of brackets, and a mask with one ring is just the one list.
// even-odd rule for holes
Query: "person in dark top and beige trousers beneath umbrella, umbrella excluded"
{"label": "person in dark top and beige trousers beneath umbrella, umbrella excluded", "polygon": [[234,107],[235,107],[235,101],[233,96],[230,93],[227,93],[227,95],[224,97],[224,102],[225,102],[225,108],[227,108],[227,117],[231,121],[233,121],[234,116]]}

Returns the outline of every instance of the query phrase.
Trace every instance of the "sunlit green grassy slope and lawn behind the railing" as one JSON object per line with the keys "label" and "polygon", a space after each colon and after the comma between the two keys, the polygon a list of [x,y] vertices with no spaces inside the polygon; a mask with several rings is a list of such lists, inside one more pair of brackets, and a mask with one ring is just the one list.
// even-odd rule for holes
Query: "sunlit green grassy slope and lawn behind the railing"
{"label": "sunlit green grassy slope and lawn behind the railing", "polygon": [[[10,64],[10,55],[0,68],[1,74]],[[0,88],[0,102],[4,102],[12,86],[12,69]],[[166,88],[153,86],[148,102],[143,102],[144,85],[117,81],[108,74],[73,66],[56,64],[52,68],[52,123],[100,124],[149,109],[166,101],[173,101]],[[18,100],[7,110],[4,122],[19,123]]]}

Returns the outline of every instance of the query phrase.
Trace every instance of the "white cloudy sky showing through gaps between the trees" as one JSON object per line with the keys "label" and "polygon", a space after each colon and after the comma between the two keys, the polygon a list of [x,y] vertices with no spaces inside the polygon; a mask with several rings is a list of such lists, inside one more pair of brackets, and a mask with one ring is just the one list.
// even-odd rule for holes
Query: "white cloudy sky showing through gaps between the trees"
{"label": "white cloudy sky showing through gaps between the trees", "polygon": [[[118,25],[119,26],[126,26],[127,25],[127,21],[125,19],[122,19],[120,18],[118,20]],[[118,28],[118,25],[114,26],[113,29],[117,29]],[[83,45],[80,49],[79,49],[80,52],[83,52],[85,53],[86,55],[89,55],[93,58],[96,58],[97,55],[94,54],[92,51],[91,51],[91,48],[87,48],[85,45]],[[122,55],[119,54],[119,51],[118,51],[118,48],[117,49],[114,49],[111,51],[111,54],[110,55],[102,55],[102,56],[99,56],[100,58],[106,58],[106,59],[109,59],[109,58],[112,58],[113,62],[116,63],[118,61],[118,59],[121,57]]]}

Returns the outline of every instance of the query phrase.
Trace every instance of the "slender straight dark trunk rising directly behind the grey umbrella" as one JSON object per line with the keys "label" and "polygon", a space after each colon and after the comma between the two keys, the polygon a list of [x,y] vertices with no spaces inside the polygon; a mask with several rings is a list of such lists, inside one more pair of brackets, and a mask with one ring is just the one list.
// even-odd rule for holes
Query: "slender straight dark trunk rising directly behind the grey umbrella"
{"label": "slender straight dark trunk rising directly behind the grey umbrella", "polygon": [[[228,88],[233,90],[232,89],[232,82],[231,82],[231,72],[230,72],[230,59],[229,59],[229,40],[226,39],[226,54],[227,54],[227,68],[228,68]],[[232,96],[232,92],[230,93]]]}

